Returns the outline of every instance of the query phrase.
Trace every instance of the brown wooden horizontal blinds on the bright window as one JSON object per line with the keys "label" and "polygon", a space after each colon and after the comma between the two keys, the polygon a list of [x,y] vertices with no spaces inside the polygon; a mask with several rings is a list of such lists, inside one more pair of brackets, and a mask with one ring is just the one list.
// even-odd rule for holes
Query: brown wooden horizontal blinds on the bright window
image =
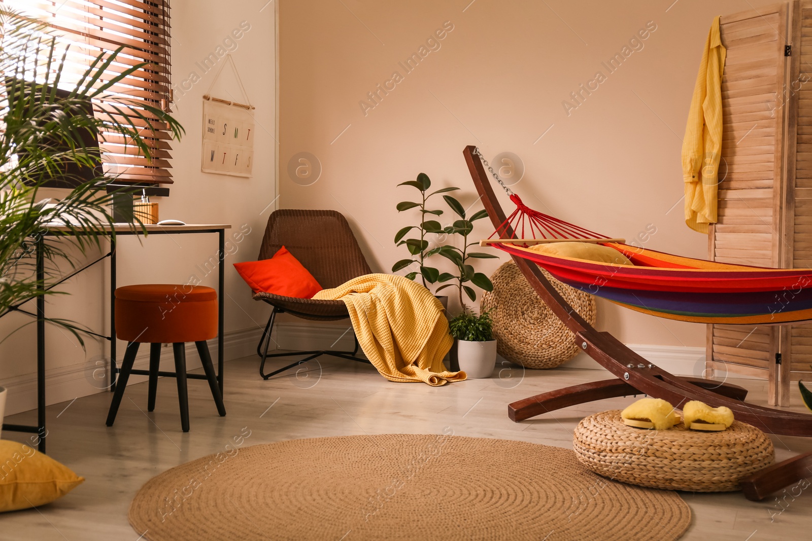
{"label": "brown wooden horizontal blinds on the bright window", "polygon": [[[2,3],[48,24],[59,38],[59,49],[69,45],[61,88],[72,88],[72,83],[80,79],[98,54],[107,57],[121,46],[122,51],[106,71],[110,78],[147,62],[100,99],[94,99],[93,112],[97,118],[132,122],[141,128],[152,159],[143,156],[139,148],[121,135],[102,131],[99,134],[102,161],[106,173],[115,175],[117,181],[171,183],[169,126],[139,106],[169,110],[169,0],[2,0]],[[139,118],[136,109],[146,120]]]}

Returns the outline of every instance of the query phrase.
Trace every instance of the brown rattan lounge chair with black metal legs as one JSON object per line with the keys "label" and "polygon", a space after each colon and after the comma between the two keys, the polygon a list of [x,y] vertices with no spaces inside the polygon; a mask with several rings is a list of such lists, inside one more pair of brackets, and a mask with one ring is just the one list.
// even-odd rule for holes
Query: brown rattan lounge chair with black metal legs
{"label": "brown rattan lounge chair with black metal legs", "polygon": [[[313,277],[325,289],[340,286],[352,278],[372,273],[347,220],[335,210],[285,208],[272,213],[268,218],[268,225],[257,259],[270,259],[283,246],[287,247],[287,250],[313,274]],[[352,334],[355,340],[355,348],[352,351],[313,350],[268,354],[270,333],[274,328],[277,314],[287,313],[303,320],[334,321],[348,319],[349,313],[347,306],[340,300],[282,297],[272,293],[257,293],[253,298],[273,307],[268,324],[257,345],[257,355],[262,359],[259,373],[264,379],[267,380],[270,376],[316,359],[321,355],[333,355],[342,359],[369,363],[368,360],[357,356],[358,339],[355,337],[355,333]],[[267,359],[299,355],[304,355],[304,359],[299,359],[295,363],[290,363],[267,374],[264,371]]]}

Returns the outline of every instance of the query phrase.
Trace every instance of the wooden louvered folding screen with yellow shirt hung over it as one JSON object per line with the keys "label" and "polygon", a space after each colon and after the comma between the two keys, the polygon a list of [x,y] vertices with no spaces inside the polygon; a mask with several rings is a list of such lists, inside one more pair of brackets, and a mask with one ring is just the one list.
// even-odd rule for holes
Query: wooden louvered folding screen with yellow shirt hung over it
{"label": "wooden louvered folding screen with yellow shirt hung over it", "polygon": [[[812,268],[812,2],[725,15],[721,34],[728,55],[710,257]],[[782,311],[792,297],[787,290],[768,309]],[[788,406],[790,380],[812,377],[812,324],[708,325],[707,359],[717,376],[766,376],[770,404]]]}

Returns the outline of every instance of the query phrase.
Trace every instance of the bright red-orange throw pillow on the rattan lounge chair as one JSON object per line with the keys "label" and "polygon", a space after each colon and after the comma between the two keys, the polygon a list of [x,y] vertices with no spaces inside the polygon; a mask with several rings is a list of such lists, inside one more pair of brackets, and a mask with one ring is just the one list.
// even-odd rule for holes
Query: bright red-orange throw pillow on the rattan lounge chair
{"label": "bright red-orange throw pillow on the rattan lounge chair", "polygon": [[253,292],[283,297],[312,298],[322,286],[286,247],[279,248],[270,260],[245,261],[234,267]]}

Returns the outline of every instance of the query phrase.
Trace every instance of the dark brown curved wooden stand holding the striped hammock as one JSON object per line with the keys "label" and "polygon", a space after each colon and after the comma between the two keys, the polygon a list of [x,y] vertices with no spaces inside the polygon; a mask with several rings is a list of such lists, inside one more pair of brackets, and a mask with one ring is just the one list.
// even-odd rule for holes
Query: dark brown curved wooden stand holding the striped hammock
{"label": "dark brown curved wooden stand holding the striped hammock", "polygon": [[[463,155],[490,221],[499,230],[507,217],[496,199],[482,160],[475,151],[476,147],[469,145],[465,147]],[[501,230],[501,237],[515,238],[509,225]],[[573,385],[513,402],[508,405],[508,417],[513,421],[523,421],[553,410],[604,398],[647,394],[663,398],[676,408],[681,408],[685,402],[691,400],[703,401],[714,407],[728,406],[736,419],[752,424],[768,434],[812,437],[812,415],[748,404],[745,402],[747,389],[738,385],[674,376],[654,366],[610,333],[595,330],[581,318],[536,264],[530,264],[516,255],[512,255],[512,259],[538,296],[574,333],[578,346],[615,376],[611,380]],[[801,454],[759,471],[742,480],[741,487],[749,500],[762,500],[772,492],[806,479],[810,472],[808,468],[812,468],[812,453]]]}

